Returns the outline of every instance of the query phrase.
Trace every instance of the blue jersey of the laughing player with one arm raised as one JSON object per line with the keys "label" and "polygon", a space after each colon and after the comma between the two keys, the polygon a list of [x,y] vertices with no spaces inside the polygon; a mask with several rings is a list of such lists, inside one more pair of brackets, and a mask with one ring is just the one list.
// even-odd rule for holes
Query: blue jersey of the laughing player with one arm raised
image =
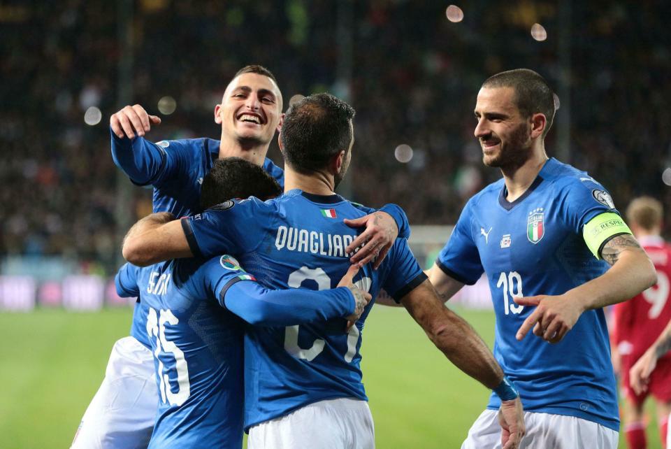
{"label": "blue jersey of the laughing player with one arm raised", "polygon": [[[200,208],[203,178],[210,173],[219,157],[220,141],[211,138],[188,138],[153,143],[145,138],[119,138],[112,134],[112,155],[115,163],[136,185],[154,187],[154,212],[170,212],[185,217]],[[132,148],[129,146],[132,145]],[[266,158],[264,170],[284,185],[284,171]],[[149,347],[143,322],[147,308],[136,304],[131,336]]]}

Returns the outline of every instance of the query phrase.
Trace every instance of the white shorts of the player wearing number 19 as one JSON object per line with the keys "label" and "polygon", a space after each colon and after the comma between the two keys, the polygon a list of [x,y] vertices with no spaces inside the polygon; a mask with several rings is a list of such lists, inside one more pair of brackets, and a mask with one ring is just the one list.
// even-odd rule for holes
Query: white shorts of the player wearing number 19
{"label": "white shorts of the player wearing number 19", "polygon": [[[526,434],[520,449],[617,449],[618,433],[575,416],[524,412]],[[500,449],[498,411],[485,410],[468,431],[461,449]]]}

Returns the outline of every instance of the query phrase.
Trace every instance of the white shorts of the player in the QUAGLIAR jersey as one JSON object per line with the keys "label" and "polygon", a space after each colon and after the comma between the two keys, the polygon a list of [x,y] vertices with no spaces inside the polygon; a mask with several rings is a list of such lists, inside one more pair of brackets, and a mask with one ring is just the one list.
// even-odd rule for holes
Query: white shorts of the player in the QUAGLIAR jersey
{"label": "white shorts of the player in the QUAGLIAR jersey", "polygon": [[247,449],[373,449],[368,402],[340,398],[315,402],[250,429]]}

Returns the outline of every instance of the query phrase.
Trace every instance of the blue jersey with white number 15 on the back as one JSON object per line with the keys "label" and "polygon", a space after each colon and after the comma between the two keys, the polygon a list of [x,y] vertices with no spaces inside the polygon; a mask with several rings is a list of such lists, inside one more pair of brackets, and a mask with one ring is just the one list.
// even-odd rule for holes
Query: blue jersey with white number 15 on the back
{"label": "blue jersey with white number 15 on the back", "polygon": [[148,311],[144,333],[159,389],[150,448],[242,446],[243,322],[219,299],[247,278],[219,258],[125,264],[117,274],[119,294],[140,293]]}

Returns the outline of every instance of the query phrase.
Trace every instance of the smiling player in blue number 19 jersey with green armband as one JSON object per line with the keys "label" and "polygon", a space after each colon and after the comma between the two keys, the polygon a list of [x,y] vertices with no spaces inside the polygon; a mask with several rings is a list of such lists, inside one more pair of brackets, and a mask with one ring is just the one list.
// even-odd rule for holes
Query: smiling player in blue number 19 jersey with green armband
{"label": "smiling player in blue number 19 jersey with green armband", "polygon": [[[655,271],[605,188],[548,159],[555,111],[533,71],[484,82],[475,136],[484,164],[503,179],[468,201],[429,278],[444,299],[482,273],[489,279],[494,355],[525,409],[521,447],[614,449],[619,414],[603,307],[645,290]],[[499,447],[498,406],[492,396],[462,448]]]}

